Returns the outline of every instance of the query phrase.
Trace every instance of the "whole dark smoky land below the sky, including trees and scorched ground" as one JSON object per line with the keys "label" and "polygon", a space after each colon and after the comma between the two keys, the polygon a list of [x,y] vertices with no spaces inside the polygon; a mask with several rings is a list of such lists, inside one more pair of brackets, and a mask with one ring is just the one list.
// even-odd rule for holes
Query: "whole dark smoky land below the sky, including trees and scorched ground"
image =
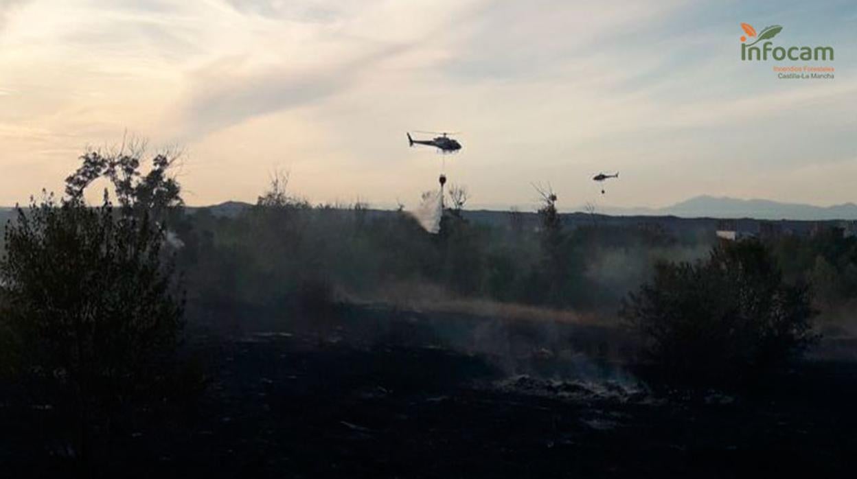
{"label": "whole dark smoky land below the sky, including trees and scorched ground", "polygon": [[545,195],[537,226],[458,208],[429,235],[276,181],[234,217],[135,209],[146,182],[117,213],[80,200],[102,164],[6,227],[9,476],[851,472],[857,238],[840,230],[572,229]]}

